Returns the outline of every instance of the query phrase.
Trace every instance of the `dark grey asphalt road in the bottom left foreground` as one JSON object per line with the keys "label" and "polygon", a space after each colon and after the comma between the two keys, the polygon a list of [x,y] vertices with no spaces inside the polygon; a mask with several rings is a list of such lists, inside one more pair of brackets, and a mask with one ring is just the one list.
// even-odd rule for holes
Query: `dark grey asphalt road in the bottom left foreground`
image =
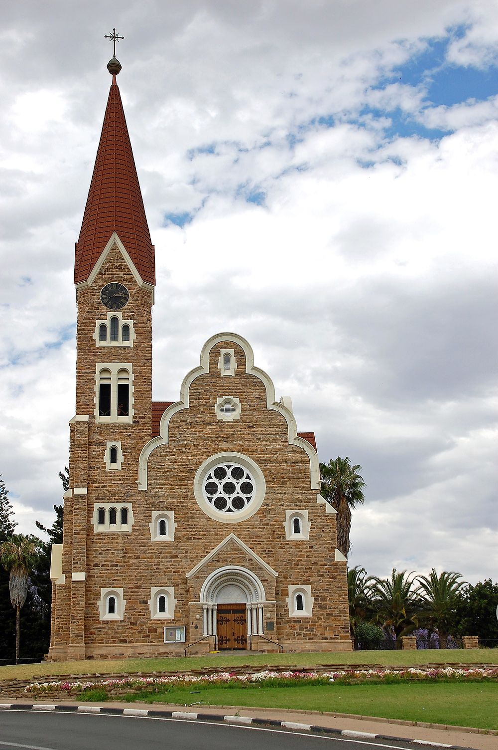
{"label": "dark grey asphalt road in the bottom left foreground", "polygon": [[[34,711],[0,713],[0,750],[405,750],[403,742],[310,736],[201,721]],[[412,745],[413,748],[413,745]]]}

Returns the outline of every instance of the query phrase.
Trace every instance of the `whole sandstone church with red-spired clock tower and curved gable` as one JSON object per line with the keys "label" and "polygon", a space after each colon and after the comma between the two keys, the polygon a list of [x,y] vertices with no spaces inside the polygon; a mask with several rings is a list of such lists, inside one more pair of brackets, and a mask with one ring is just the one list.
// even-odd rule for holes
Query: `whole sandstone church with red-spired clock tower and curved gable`
{"label": "whole sandstone church with red-spired clock tower and curved gable", "polygon": [[76,416],[49,659],[350,650],[347,561],[315,436],[297,431],[250,344],[210,335],[177,400],[152,401],[154,245],[121,65],[108,69],[76,242]]}

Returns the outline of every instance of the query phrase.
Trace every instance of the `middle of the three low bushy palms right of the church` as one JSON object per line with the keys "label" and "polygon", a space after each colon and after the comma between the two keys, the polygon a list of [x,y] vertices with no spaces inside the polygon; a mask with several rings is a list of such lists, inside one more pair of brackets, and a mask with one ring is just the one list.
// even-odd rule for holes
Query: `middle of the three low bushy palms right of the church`
{"label": "middle of the three low bushy palms right of the church", "polygon": [[396,640],[418,625],[420,604],[411,575],[406,570],[398,573],[392,568],[390,578],[374,577],[371,589],[377,622],[395,635]]}

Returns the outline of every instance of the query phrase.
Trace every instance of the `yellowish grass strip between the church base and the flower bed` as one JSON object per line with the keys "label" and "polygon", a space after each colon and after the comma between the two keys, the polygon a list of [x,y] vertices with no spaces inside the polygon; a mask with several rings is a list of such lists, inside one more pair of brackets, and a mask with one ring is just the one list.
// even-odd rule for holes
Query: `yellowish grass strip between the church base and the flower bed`
{"label": "yellowish grass strip between the church base and the flower bed", "polygon": [[243,664],[264,667],[286,664],[289,667],[313,667],[315,664],[382,664],[415,667],[417,664],[498,664],[498,649],[434,649],[420,651],[348,651],[326,653],[255,654],[242,656],[190,656],[187,658],[87,659],[58,661],[52,664],[19,664],[0,667],[2,679],[30,679],[34,675],[105,674],[109,672],[186,671],[202,667],[240,667]]}

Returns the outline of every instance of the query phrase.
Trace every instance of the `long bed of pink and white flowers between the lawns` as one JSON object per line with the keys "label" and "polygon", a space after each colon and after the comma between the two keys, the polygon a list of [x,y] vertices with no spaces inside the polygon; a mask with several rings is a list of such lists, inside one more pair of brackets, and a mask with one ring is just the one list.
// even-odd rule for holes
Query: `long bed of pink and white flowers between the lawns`
{"label": "long bed of pink and white flowers between the lawns", "polygon": [[330,672],[293,672],[263,670],[255,673],[237,674],[233,672],[218,672],[206,675],[176,674],[170,676],[133,676],[122,679],[95,680],[94,682],[70,682],[68,680],[54,682],[31,682],[26,685],[26,693],[59,693],[81,694],[95,689],[106,690],[112,695],[127,694],[130,691],[153,690],[166,691],[168,685],[175,688],[198,687],[242,687],[243,685],[259,685],[261,687],[291,687],[293,685],[326,685],[330,682],[345,684],[350,682],[398,682],[408,680],[426,681],[455,681],[468,682],[476,680],[498,681],[498,667],[441,667],[420,669],[410,667],[404,670],[367,669],[367,670],[338,670]]}

